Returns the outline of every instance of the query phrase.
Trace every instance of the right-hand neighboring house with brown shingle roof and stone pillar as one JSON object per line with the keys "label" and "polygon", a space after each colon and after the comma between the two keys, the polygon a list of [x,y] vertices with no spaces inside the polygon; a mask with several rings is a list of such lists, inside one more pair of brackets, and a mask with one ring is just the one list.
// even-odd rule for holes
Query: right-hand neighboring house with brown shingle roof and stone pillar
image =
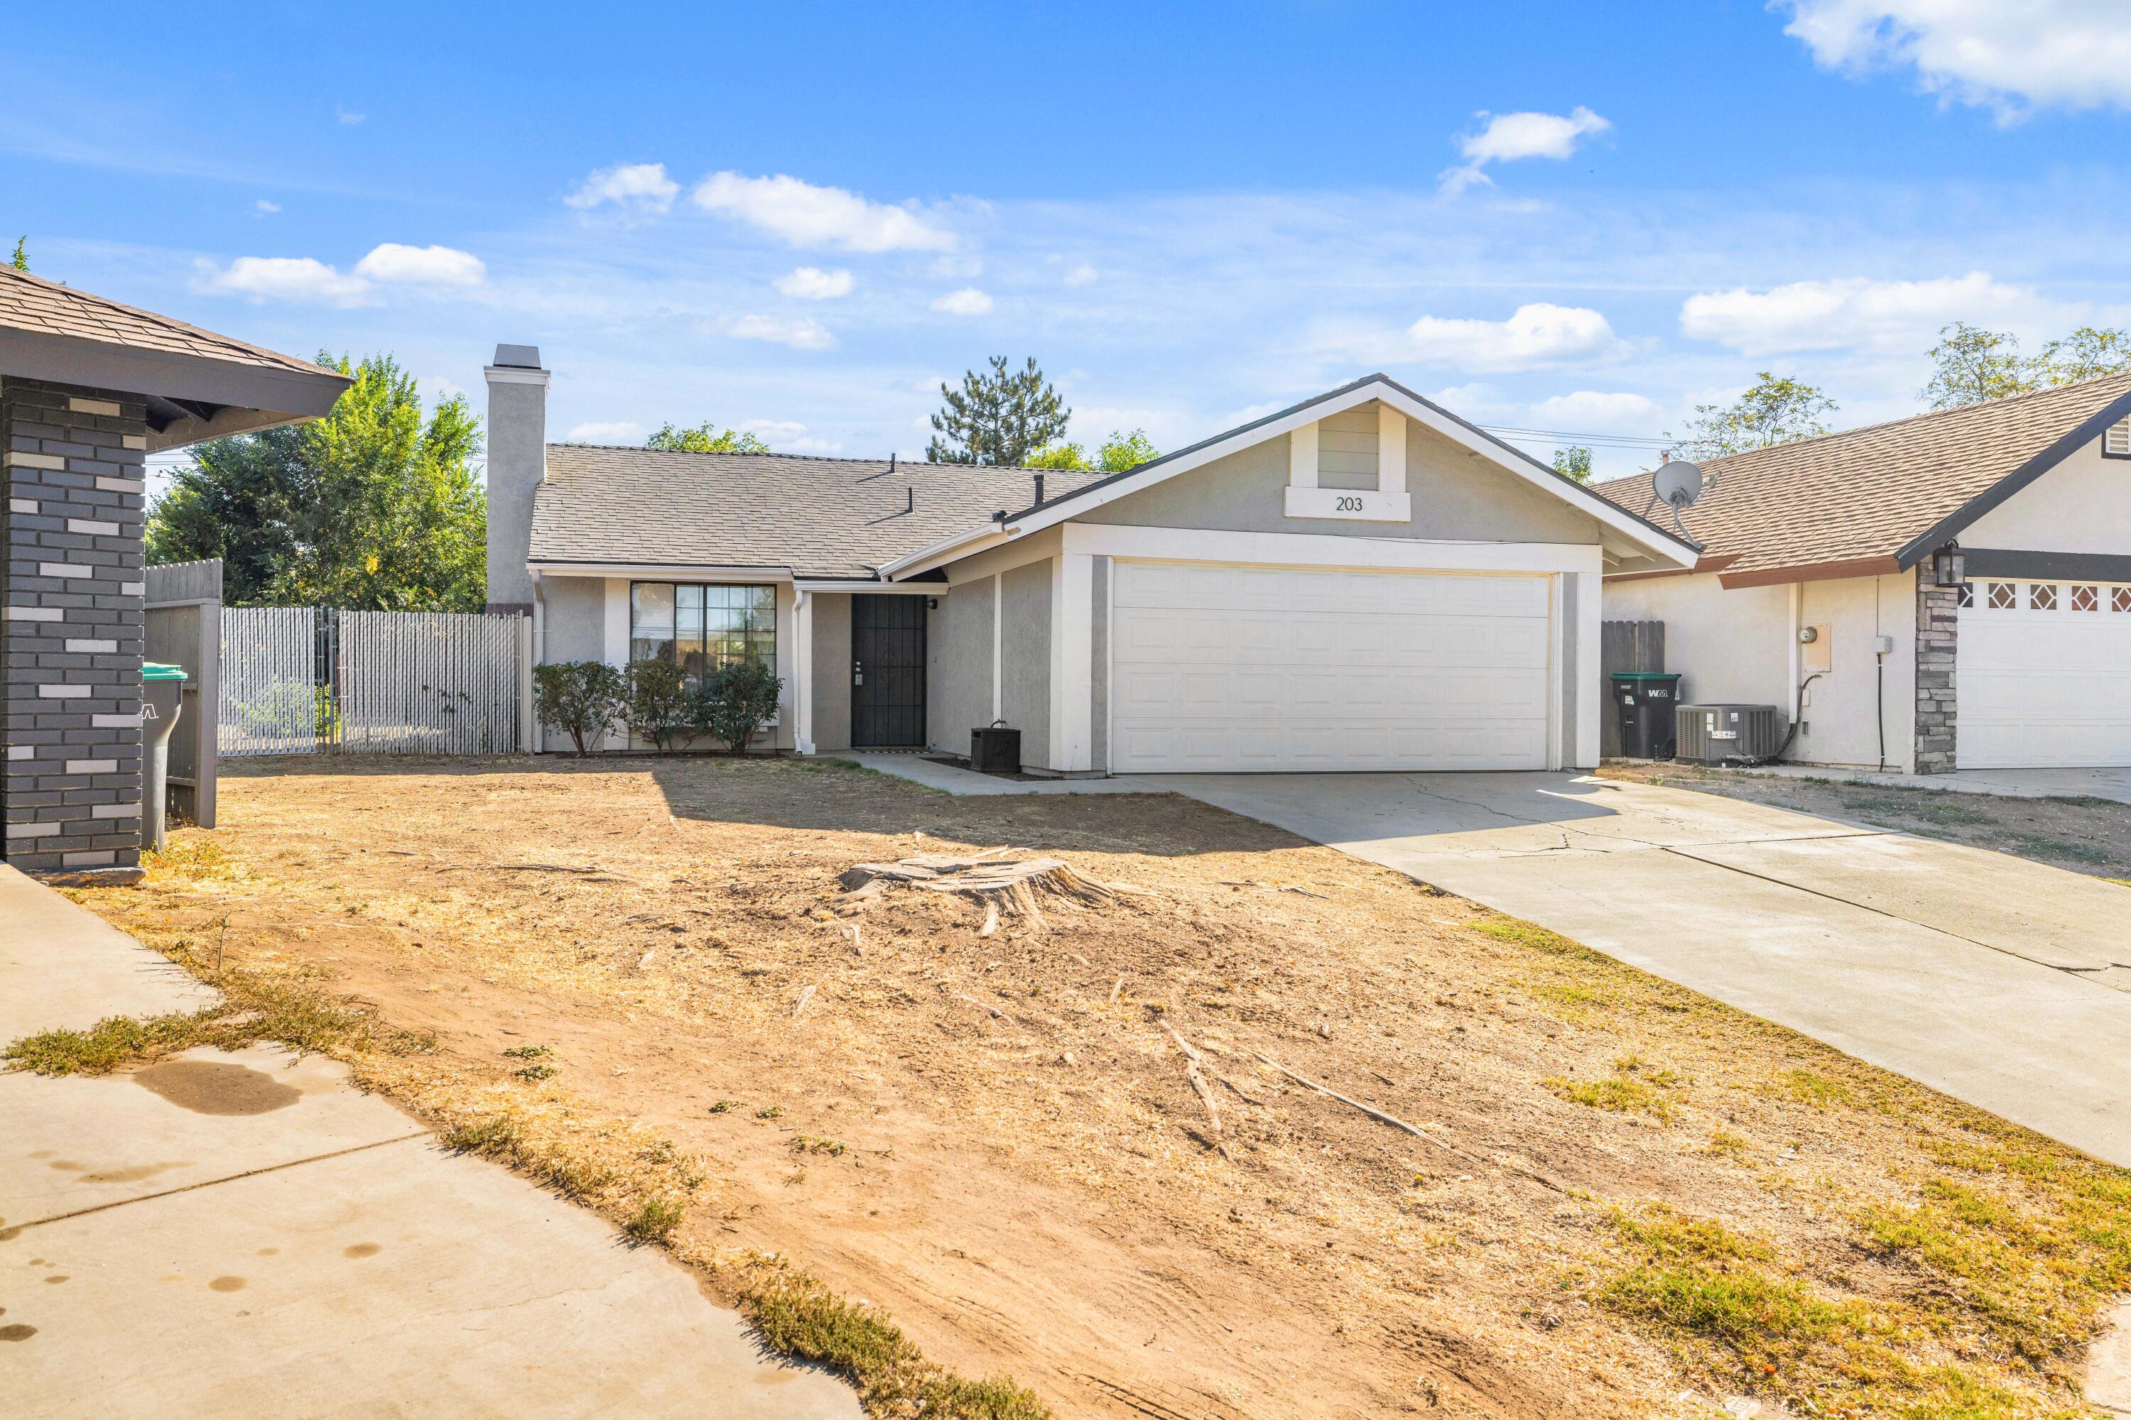
{"label": "right-hand neighboring house with brown shingle roof and stone pillar", "polygon": [[2131,764],[2127,460],[2131,375],[1720,458],[1692,573],[1609,575],[1605,615],[1664,622],[1681,698],[1799,720],[1792,760]]}

